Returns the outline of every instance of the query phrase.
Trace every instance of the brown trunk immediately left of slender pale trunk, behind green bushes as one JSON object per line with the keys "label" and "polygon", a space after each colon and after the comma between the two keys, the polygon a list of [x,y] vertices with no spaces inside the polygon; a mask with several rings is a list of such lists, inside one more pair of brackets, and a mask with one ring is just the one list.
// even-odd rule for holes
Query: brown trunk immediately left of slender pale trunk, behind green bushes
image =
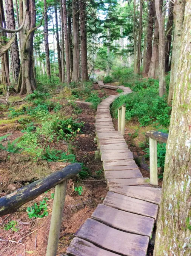
{"label": "brown trunk immediately left of slender pale trunk, behind green bushes", "polygon": [[[155,13],[155,7],[154,7]],[[156,13],[155,13],[156,14]],[[152,47],[152,57],[151,57],[151,64],[149,67],[148,77],[152,77],[154,79],[157,78],[158,68],[159,68],[159,23],[157,17],[155,15],[154,20],[154,41]]]}

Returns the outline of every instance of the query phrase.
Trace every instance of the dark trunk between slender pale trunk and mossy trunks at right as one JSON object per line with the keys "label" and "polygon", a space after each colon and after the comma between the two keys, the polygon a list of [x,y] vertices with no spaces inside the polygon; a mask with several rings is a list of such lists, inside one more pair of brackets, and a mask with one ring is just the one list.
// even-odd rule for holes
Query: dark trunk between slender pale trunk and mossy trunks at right
{"label": "dark trunk between slender pale trunk and mossy trunks at right", "polygon": [[171,50],[172,31],[173,31],[173,9],[174,2],[169,2],[168,21],[166,24],[166,44],[165,44],[165,72],[170,71],[169,57]]}

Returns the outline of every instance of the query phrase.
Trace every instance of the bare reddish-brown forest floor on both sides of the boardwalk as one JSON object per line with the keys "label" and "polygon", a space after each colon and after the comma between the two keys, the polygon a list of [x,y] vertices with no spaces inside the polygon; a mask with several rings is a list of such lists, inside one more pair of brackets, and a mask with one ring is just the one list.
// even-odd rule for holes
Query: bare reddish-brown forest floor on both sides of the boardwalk
{"label": "bare reddish-brown forest floor on both sides of the boardwalk", "polygon": [[[93,90],[97,92],[100,98],[107,97],[111,94],[118,94],[115,90],[100,89],[97,84],[94,84]],[[56,102],[57,98],[53,98],[52,101]],[[0,97],[0,100],[1,99],[3,100],[3,98]],[[11,100],[18,101],[18,96],[11,97]],[[82,101],[82,99],[79,100]],[[85,179],[76,177],[75,179],[68,181],[64,218],[61,226],[57,255],[65,253],[66,248],[77,230],[85,220],[91,216],[97,204],[102,203],[108,191],[103,176],[102,162],[97,162],[94,159],[94,151],[97,149],[97,145],[94,144],[93,140],[95,137],[94,124],[96,111],[86,104],[78,104],[78,107],[82,111],[81,113],[76,114],[73,112],[72,105],[68,104],[65,99],[59,98],[59,102],[61,105],[65,106],[64,115],[72,115],[74,118],[78,118],[78,122],[84,123],[84,126],[81,129],[82,133],[77,133],[69,143],[66,143],[64,140],[59,140],[58,142],[47,143],[46,146],[50,145],[51,147],[54,147],[54,149],[59,149],[64,152],[70,148],[72,154],[76,156],[76,160],[83,163],[88,168],[89,177]],[[18,102],[13,105],[20,106],[21,104],[23,104],[23,102]],[[1,109],[0,137],[11,133],[9,141],[13,141],[23,135],[18,122],[11,123],[14,125],[9,126],[9,124],[6,124],[8,121],[5,120],[9,120],[7,117],[7,109]],[[32,121],[34,122],[34,120]],[[114,124],[115,126],[117,125],[117,120],[114,120]],[[139,127],[139,123],[136,120],[126,123],[125,139],[129,149],[134,155],[142,156],[145,154],[139,147],[139,143],[145,141],[145,135],[143,135],[143,132],[146,131],[145,129],[149,130],[152,129],[152,127]],[[3,145],[6,143],[7,139],[3,141]],[[68,164],[69,163],[65,162],[47,162],[46,160],[34,161],[31,160],[31,157],[27,154],[15,154],[0,150],[0,196],[11,193],[41,177],[60,170]],[[143,177],[149,177],[148,170],[140,168],[140,171],[142,172]],[[159,185],[162,185],[161,182]],[[82,186],[83,188],[82,195],[79,195],[77,191],[74,191],[74,188],[79,186]],[[45,255],[51,221],[53,194],[54,188],[26,203],[14,214],[5,215],[0,218],[1,256]],[[34,203],[38,204],[43,198],[48,198],[49,215],[43,218],[29,219],[26,208],[33,206]],[[12,222],[13,226],[9,229],[8,225],[10,225],[11,221],[14,222]]]}

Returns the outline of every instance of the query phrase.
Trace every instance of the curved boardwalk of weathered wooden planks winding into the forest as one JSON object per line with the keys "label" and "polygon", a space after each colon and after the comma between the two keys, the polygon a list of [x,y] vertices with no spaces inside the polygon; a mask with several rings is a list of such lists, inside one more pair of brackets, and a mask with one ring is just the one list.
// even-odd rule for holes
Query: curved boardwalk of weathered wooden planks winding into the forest
{"label": "curved boardwalk of weathered wooden planks winding into the forest", "polygon": [[[130,88],[118,88],[122,94],[131,93]],[[114,129],[109,106],[116,97],[110,95],[99,104],[95,123],[109,192],[72,240],[68,255],[145,256],[147,252],[161,190],[148,185],[123,135]]]}

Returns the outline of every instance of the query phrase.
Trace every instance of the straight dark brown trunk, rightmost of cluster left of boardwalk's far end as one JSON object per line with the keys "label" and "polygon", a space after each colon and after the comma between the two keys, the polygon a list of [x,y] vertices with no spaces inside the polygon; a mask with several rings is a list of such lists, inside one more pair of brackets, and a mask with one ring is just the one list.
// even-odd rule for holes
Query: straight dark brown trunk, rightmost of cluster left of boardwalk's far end
{"label": "straight dark brown trunk, rightmost of cluster left of boardwalk's far end", "polygon": [[81,36],[81,66],[82,81],[88,81],[88,61],[87,61],[87,42],[86,42],[86,13],[85,3],[80,2],[80,36]]}

